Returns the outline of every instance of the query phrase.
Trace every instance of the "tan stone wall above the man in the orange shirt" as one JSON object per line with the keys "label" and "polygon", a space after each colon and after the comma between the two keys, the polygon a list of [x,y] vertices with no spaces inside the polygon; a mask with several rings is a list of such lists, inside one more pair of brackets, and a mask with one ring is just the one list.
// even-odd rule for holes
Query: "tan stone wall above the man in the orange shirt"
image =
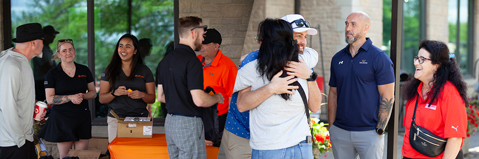
{"label": "tan stone wall above the man in the orange shirt", "polygon": [[[254,0],[180,0],[180,17],[198,16],[222,36],[220,49],[237,65]],[[199,54],[199,53],[197,53]]]}

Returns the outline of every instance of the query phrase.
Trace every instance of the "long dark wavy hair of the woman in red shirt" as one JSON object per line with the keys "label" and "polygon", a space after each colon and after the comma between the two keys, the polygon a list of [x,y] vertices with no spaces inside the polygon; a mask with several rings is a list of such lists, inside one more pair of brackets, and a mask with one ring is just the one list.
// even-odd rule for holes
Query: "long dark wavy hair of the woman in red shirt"
{"label": "long dark wavy hair of the woman in red shirt", "polygon": [[[431,59],[433,65],[439,64],[436,73],[434,73],[434,79],[430,81],[430,83],[424,83],[433,85],[429,92],[431,97],[429,105],[432,105],[438,100],[437,98],[439,93],[441,93],[444,84],[446,84],[446,82],[449,80],[454,84],[454,86],[456,86],[461,98],[464,100],[466,107],[468,107],[468,87],[463,79],[463,75],[461,74],[461,69],[459,68],[456,58],[449,58],[448,46],[441,41],[424,40],[419,45],[419,50],[421,49],[425,49],[431,54],[429,58]],[[414,78],[414,76],[410,77],[403,86],[404,98],[410,100],[414,99],[416,95],[419,95],[417,88],[419,87],[420,83],[421,80]]]}

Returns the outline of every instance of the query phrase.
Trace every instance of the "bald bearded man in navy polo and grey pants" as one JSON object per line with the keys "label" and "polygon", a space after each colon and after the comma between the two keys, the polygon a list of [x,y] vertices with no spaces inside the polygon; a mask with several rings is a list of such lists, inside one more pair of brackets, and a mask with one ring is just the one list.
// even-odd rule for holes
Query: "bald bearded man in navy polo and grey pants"
{"label": "bald bearded man in navy polo and grey pants", "polygon": [[331,60],[328,120],[335,159],[382,159],[384,129],[394,102],[393,62],[372,45],[368,14],[348,15],[348,45]]}

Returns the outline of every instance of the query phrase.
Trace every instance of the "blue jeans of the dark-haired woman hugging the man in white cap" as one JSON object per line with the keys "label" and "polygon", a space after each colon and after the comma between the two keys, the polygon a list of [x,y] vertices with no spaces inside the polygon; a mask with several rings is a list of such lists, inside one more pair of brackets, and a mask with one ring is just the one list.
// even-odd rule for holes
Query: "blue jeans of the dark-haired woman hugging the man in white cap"
{"label": "blue jeans of the dark-haired woman hugging the man in white cap", "polygon": [[278,150],[251,151],[251,159],[313,159],[313,144],[300,142],[298,145]]}

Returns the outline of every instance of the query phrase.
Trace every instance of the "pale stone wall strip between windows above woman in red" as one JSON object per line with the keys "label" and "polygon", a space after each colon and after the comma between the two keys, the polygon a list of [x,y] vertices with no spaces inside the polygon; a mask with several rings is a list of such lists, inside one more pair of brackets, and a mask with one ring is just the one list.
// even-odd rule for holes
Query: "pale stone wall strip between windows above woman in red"
{"label": "pale stone wall strip between windows above woman in red", "polygon": [[427,39],[449,42],[448,1],[449,0],[427,1]]}

